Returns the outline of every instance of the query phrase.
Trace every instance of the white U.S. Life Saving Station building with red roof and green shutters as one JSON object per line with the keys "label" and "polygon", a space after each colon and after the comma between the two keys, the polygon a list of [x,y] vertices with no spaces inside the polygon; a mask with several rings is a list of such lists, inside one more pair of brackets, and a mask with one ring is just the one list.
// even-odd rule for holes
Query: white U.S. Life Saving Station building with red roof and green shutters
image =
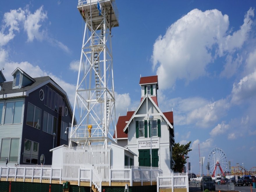
{"label": "white U.S. Life Saving Station building with red roof and green shutters", "polygon": [[[173,111],[162,112],[158,107],[157,75],[141,77],[141,102],[135,111],[127,111],[117,122],[118,145],[137,156],[125,157],[125,165],[160,167],[168,173],[175,162]],[[152,126],[151,126],[152,125]]]}

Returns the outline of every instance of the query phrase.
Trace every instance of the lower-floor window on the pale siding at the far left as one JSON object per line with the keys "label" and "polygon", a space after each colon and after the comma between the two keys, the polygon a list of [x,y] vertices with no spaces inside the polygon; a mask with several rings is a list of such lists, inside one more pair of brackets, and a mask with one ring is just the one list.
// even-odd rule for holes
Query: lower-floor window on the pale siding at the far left
{"label": "lower-floor window on the pale siding at the far left", "polygon": [[19,138],[2,138],[0,162],[17,163],[19,156]]}

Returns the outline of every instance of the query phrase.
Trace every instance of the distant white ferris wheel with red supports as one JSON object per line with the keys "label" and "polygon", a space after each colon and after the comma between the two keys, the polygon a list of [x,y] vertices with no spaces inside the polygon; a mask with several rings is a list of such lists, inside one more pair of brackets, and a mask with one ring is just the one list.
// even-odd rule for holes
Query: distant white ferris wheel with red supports
{"label": "distant white ferris wheel with red supports", "polygon": [[217,175],[225,175],[227,171],[227,156],[221,148],[214,148],[208,155],[207,162],[208,174],[215,177]]}

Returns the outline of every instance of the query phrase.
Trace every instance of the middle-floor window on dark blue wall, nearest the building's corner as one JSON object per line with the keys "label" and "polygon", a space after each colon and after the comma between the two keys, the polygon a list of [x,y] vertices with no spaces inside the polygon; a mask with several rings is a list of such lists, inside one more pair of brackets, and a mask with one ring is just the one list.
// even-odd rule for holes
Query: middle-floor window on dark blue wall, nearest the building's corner
{"label": "middle-floor window on dark blue wall, nearest the building's corner", "polygon": [[26,124],[37,129],[40,129],[41,125],[41,109],[29,102]]}

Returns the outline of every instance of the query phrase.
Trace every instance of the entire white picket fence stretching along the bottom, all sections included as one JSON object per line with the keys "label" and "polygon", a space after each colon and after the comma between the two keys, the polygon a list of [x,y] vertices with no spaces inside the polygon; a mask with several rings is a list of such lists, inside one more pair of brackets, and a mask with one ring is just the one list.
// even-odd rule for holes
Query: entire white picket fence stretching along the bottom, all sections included
{"label": "entire white picket fence stretching along the bottom, all sections included", "polygon": [[[103,168],[103,167],[101,167]],[[106,167],[105,167],[106,168]],[[71,170],[74,170],[73,167]],[[103,179],[101,177],[100,167],[95,168],[94,165],[78,167],[76,171],[71,172],[74,175],[63,175],[63,168],[51,165],[7,165],[0,166],[0,178],[22,178],[23,182],[25,179],[49,179],[50,183],[52,180],[59,180],[60,184],[62,181],[70,181],[64,178],[71,178],[72,181],[90,182],[90,186],[95,185],[99,191],[102,189]],[[102,171],[104,171],[102,169]],[[188,175],[186,173],[170,173],[169,175],[162,175],[161,169],[157,167],[136,167],[136,166],[125,166],[125,167],[111,167],[108,170],[109,177],[106,179],[111,185],[111,182],[129,182],[130,186],[133,186],[133,182],[152,182],[157,181],[157,190],[167,188],[186,188],[189,191]],[[103,174],[104,175],[104,174]]]}

